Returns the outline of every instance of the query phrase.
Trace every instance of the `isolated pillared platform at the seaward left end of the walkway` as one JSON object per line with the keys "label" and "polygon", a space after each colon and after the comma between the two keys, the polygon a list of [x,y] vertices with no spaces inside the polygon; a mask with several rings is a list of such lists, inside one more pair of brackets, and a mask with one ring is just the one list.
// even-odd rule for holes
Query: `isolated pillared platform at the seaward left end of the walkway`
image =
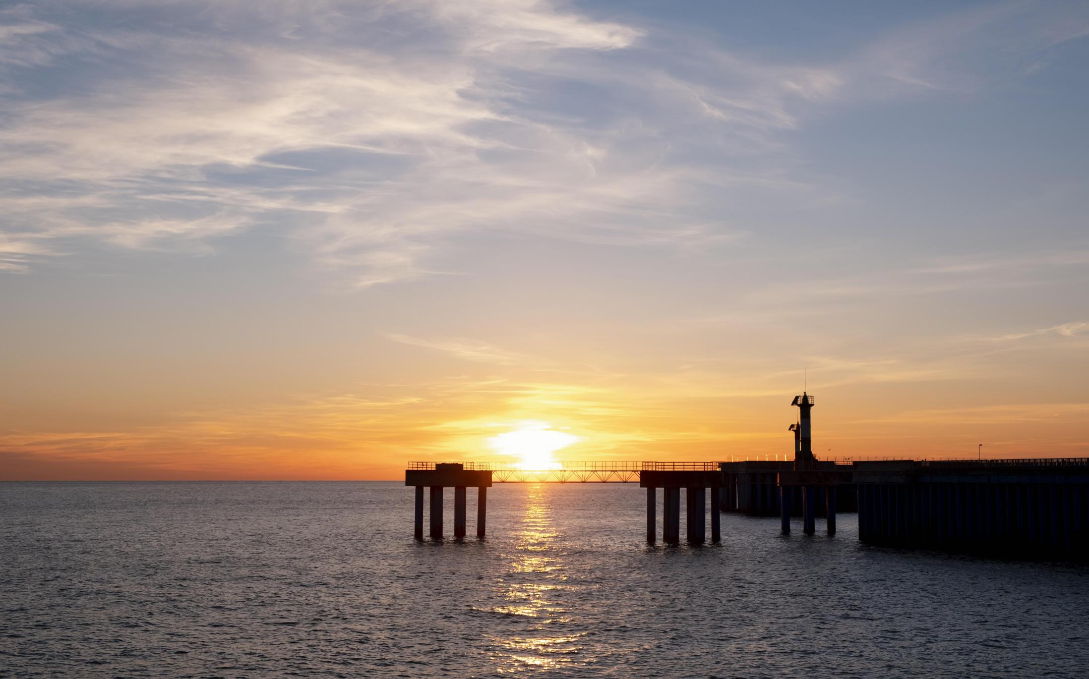
{"label": "isolated pillared platform at the seaward left end of the walkway", "polygon": [[485,536],[491,471],[466,470],[461,462],[412,462],[405,485],[416,487],[415,535],[424,539],[424,487],[430,488],[432,538],[442,537],[442,489],[454,487],[454,537],[465,537],[465,488],[477,488],[477,537]]}

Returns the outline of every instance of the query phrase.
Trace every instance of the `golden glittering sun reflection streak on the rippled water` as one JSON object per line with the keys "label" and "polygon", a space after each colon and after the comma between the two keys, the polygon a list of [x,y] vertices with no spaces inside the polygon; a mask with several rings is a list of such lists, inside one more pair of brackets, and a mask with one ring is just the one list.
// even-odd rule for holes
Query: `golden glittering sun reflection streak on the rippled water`
{"label": "golden glittering sun reflection streak on the rippled water", "polygon": [[571,663],[582,651],[582,632],[573,632],[574,622],[564,605],[570,591],[564,560],[558,547],[560,535],[552,524],[552,507],[542,484],[526,486],[526,508],[510,568],[499,581],[504,604],[494,613],[514,616],[506,638],[497,638],[493,658],[499,674],[547,671]]}

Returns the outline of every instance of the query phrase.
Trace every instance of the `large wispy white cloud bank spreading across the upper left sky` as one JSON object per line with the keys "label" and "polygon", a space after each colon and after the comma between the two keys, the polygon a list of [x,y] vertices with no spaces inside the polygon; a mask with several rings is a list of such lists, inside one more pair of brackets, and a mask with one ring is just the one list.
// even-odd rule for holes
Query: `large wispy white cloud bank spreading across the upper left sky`
{"label": "large wispy white cloud bank spreading across the upper left sky", "polygon": [[[962,12],[812,64],[543,0],[198,7],[0,12],[2,266],[266,226],[350,288],[446,271],[478,234],[719,246],[749,230],[739,210],[842,198],[798,170],[810,118],[873,78],[938,82],[954,38],[993,51],[1028,15]],[[135,8],[148,21],[121,21]],[[1018,53],[1080,35],[1076,9],[1039,14]]]}

